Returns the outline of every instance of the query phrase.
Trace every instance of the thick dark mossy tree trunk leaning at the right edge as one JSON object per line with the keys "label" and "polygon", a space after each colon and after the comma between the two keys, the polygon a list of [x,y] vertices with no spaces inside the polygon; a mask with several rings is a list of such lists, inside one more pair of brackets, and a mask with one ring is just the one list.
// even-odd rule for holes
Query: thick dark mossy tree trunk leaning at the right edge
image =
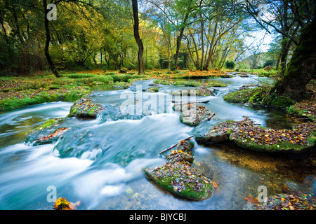
{"label": "thick dark mossy tree trunk leaning at the right edge", "polygon": [[316,72],[316,22],[315,19],[304,27],[301,40],[294,50],[284,77],[272,88],[272,94],[300,100],[306,92],[306,85]]}

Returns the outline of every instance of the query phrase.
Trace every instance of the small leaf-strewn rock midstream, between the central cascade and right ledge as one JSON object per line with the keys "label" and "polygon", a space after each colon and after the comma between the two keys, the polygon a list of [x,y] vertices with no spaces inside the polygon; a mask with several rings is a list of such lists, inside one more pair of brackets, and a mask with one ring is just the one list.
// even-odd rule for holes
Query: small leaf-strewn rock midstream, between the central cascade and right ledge
{"label": "small leaf-strewn rock midstream, between the central cascade and right ledge", "polygon": [[211,120],[214,116],[214,113],[211,113],[205,106],[198,106],[195,103],[175,104],[173,109],[180,111],[180,121],[189,126],[197,126],[199,123]]}

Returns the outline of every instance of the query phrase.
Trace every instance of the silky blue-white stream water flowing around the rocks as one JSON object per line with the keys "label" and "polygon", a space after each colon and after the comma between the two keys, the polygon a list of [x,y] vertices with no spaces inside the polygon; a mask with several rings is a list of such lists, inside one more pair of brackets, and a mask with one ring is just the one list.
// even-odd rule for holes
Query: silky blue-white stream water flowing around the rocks
{"label": "silky blue-white stream water flowing around the rocks", "polygon": [[[265,81],[271,81],[263,78]],[[52,187],[58,197],[80,201],[77,209],[242,209],[244,197],[258,195],[265,186],[268,196],[282,193],[284,186],[314,195],[315,173],[297,158],[254,153],[230,145],[195,144],[194,166],[216,182],[209,200],[195,202],[172,195],[148,181],[146,167],[164,164],[159,152],[199,130],[223,120],[242,120],[248,116],[265,127],[293,125],[285,111],[267,107],[231,104],[223,101],[228,92],[242,85],[256,85],[258,77],[216,78],[215,96],[197,97],[216,113],[212,120],[189,127],[179,120],[167,99],[173,90],[184,86],[160,85],[157,93],[142,92],[153,80],[143,80],[128,90],[98,87],[91,99],[105,106],[96,120],[67,118],[71,127],[54,144],[29,146],[25,132],[34,130],[49,118],[67,116],[72,103],[53,102],[25,106],[0,113],[0,209],[53,209],[48,200]],[[139,95],[138,95],[139,94]],[[134,98],[131,98],[133,96]],[[142,106],[149,99],[159,102],[146,113],[123,113],[122,104]],[[160,103],[162,102],[162,103]],[[143,111],[144,112],[144,111]]]}

